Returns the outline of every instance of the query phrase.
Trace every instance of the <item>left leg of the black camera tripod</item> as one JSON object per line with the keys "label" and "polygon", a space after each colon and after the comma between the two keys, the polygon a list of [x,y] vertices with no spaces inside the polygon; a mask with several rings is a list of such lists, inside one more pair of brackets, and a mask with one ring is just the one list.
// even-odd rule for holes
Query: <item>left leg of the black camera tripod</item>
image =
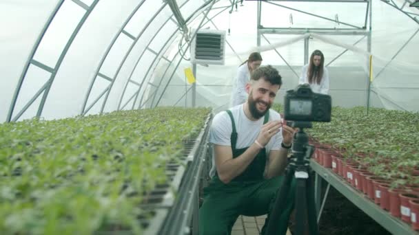
{"label": "left leg of the black camera tripod", "polygon": [[[269,214],[269,221],[267,221],[267,225],[263,227],[262,234],[285,234],[287,231],[289,212],[285,213],[285,210],[286,208],[289,208],[289,204],[287,205],[287,196],[292,192],[290,191],[290,188],[293,179],[294,169],[288,167],[280,190],[278,190],[278,194],[276,195],[274,206]],[[294,201],[290,201],[289,203],[294,203]],[[285,214],[287,217],[283,218]]]}

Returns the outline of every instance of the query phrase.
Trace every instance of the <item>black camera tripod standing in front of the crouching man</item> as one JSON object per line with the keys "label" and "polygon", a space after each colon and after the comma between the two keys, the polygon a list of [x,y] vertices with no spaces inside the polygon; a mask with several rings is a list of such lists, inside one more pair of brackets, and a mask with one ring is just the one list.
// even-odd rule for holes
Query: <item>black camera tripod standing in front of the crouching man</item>
{"label": "black camera tripod standing in front of the crouching man", "polygon": [[314,185],[313,181],[309,180],[309,176],[313,175],[313,171],[309,166],[309,158],[314,152],[314,147],[308,144],[308,135],[303,131],[303,128],[311,128],[311,122],[292,122],[292,127],[298,127],[299,131],[294,133],[291,162],[285,170],[285,177],[276,197],[274,209],[270,215],[271,218],[267,224],[267,234],[278,234],[276,221],[280,217],[280,212],[286,208],[287,193],[294,175],[296,178],[296,234],[301,235],[304,233],[305,221],[307,221],[309,234],[318,235]]}

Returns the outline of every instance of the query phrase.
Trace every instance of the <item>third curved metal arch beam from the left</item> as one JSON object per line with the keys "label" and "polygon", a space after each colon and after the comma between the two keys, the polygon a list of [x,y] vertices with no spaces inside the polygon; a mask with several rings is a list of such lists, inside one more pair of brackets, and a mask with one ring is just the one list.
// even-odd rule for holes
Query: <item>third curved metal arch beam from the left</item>
{"label": "third curved metal arch beam from the left", "polygon": [[110,50],[114,46],[114,44],[116,42],[116,39],[118,39],[119,35],[122,33],[125,26],[130,22],[130,20],[134,16],[134,14],[136,14],[136,12],[139,10],[139,8],[141,8],[141,5],[143,5],[144,2],[145,2],[145,0],[142,0],[138,5],[136,5],[136,8],[134,8],[134,10],[132,10],[130,16],[127,17],[127,19],[125,20],[125,22],[123,23],[123,25],[119,29],[118,33],[116,33],[114,38],[112,38],[112,41],[111,41],[110,45],[108,45],[108,48],[106,49],[105,54],[102,56],[101,61],[99,62],[98,67],[96,68],[96,71],[94,71],[94,74],[93,74],[93,77],[92,77],[92,82],[90,82],[89,89],[86,93],[85,100],[83,102],[83,107],[81,107],[81,113],[80,113],[81,115],[83,115],[83,113],[85,112],[85,107],[86,107],[86,104],[88,102],[90,93],[92,92],[92,88],[93,88],[94,82],[96,81],[96,77],[98,76],[99,71],[101,70],[101,67],[102,67],[103,63],[105,62],[105,59],[107,58]]}

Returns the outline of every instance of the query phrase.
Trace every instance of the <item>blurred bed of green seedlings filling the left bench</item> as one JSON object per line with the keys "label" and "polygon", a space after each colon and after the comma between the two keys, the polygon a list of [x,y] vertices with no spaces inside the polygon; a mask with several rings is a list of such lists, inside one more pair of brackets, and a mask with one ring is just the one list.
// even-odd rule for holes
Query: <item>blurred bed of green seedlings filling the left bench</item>
{"label": "blurred bed of green seedlings filling the left bench", "polygon": [[158,108],[0,125],[2,234],[141,233],[138,205],[210,109]]}

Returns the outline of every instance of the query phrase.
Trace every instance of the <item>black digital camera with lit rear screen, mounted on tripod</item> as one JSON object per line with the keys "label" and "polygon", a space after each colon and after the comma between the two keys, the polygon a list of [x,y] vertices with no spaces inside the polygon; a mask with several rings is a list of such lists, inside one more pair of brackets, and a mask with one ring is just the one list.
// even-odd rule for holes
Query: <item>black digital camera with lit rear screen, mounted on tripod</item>
{"label": "black digital camera with lit rear screen, mounted on tripod", "polygon": [[285,120],[301,122],[330,122],[331,97],[314,93],[308,84],[287,91],[284,102]]}

